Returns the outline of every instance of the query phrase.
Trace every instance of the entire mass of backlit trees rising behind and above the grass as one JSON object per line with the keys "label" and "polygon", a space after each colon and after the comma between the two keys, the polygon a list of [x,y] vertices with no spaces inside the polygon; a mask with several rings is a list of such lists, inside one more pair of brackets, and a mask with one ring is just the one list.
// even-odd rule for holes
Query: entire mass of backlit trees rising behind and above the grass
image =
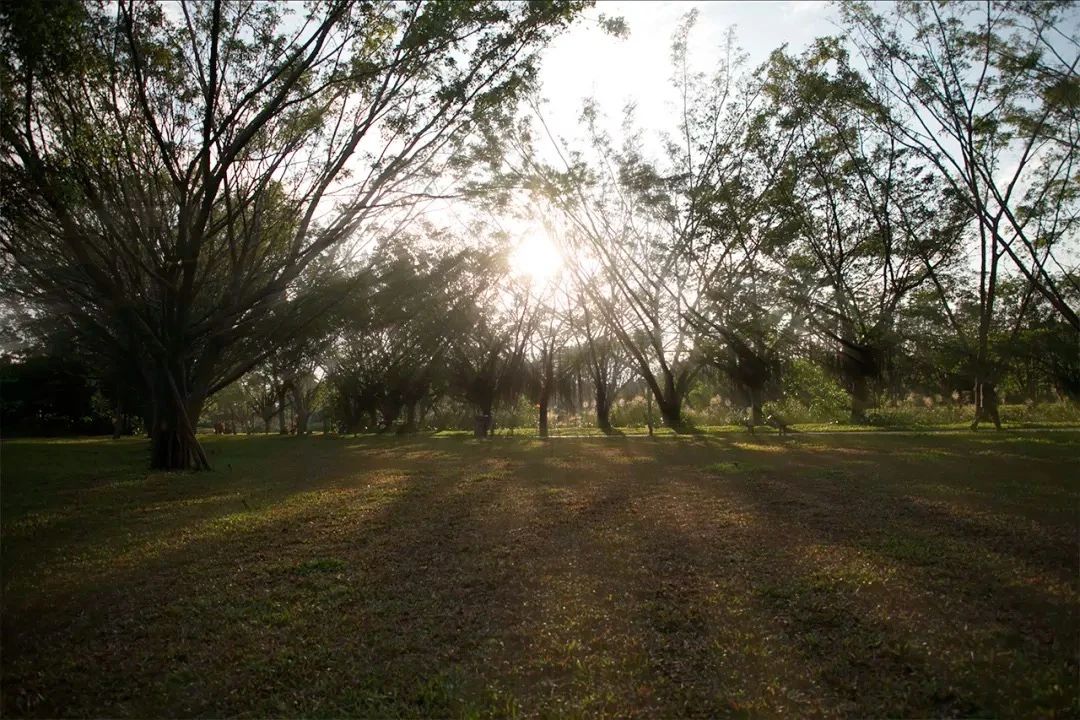
{"label": "entire mass of backlit trees rising behind and above the grass", "polygon": [[75,349],[160,468],[207,465],[207,415],[546,434],[1078,397],[1071,6],[846,3],[843,36],[752,66],[732,31],[705,68],[691,11],[666,126],[589,100],[567,138],[538,71],[585,9],[4,6],[9,344]]}

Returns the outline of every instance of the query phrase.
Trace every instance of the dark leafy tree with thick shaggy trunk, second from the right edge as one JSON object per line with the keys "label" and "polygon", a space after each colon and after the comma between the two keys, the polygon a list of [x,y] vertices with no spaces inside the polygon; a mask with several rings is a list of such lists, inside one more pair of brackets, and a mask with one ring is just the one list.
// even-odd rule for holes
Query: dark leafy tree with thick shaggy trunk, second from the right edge
{"label": "dark leafy tree with thick shaggy trunk, second from the right edge", "polygon": [[967,216],[924,161],[856,111],[874,100],[836,41],[797,60],[773,53],[768,91],[795,137],[772,196],[788,234],[771,246],[780,290],[835,344],[851,420],[863,422],[899,352],[905,298],[955,256]]}

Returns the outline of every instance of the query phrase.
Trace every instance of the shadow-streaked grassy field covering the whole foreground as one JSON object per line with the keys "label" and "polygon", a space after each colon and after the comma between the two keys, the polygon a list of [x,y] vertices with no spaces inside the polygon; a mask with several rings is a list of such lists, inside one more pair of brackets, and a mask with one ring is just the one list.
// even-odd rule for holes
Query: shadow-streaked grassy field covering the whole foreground
{"label": "shadow-streaked grassy field covering the whole foreground", "polygon": [[1077,717],[1080,432],[2,451],[4,716]]}

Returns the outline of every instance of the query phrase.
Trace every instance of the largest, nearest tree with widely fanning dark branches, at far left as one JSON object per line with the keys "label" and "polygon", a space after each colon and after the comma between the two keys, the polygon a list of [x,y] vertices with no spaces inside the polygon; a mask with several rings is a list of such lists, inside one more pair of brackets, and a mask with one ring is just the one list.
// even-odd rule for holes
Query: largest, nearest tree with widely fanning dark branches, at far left
{"label": "largest, nearest tree with widely fanning dark branches, at far left", "polygon": [[137,358],[153,467],[207,466],[206,398],[325,310],[298,279],[429,188],[581,6],[5,5],[0,243]]}

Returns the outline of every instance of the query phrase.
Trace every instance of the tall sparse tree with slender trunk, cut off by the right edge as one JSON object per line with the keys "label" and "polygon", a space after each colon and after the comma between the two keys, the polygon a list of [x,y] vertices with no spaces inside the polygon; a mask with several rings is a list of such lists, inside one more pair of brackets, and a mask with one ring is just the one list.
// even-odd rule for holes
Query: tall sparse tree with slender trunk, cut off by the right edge
{"label": "tall sparse tree with slender trunk, cut off by the right edge", "polygon": [[1059,257],[1080,219],[1080,28],[1069,9],[990,1],[900,2],[885,15],[866,3],[842,9],[883,109],[868,117],[930,163],[975,221],[969,235],[982,312],[964,344],[974,351],[976,426],[996,413],[981,398],[997,396],[989,344],[1001,258],[1080,343],[1071,271]]}

